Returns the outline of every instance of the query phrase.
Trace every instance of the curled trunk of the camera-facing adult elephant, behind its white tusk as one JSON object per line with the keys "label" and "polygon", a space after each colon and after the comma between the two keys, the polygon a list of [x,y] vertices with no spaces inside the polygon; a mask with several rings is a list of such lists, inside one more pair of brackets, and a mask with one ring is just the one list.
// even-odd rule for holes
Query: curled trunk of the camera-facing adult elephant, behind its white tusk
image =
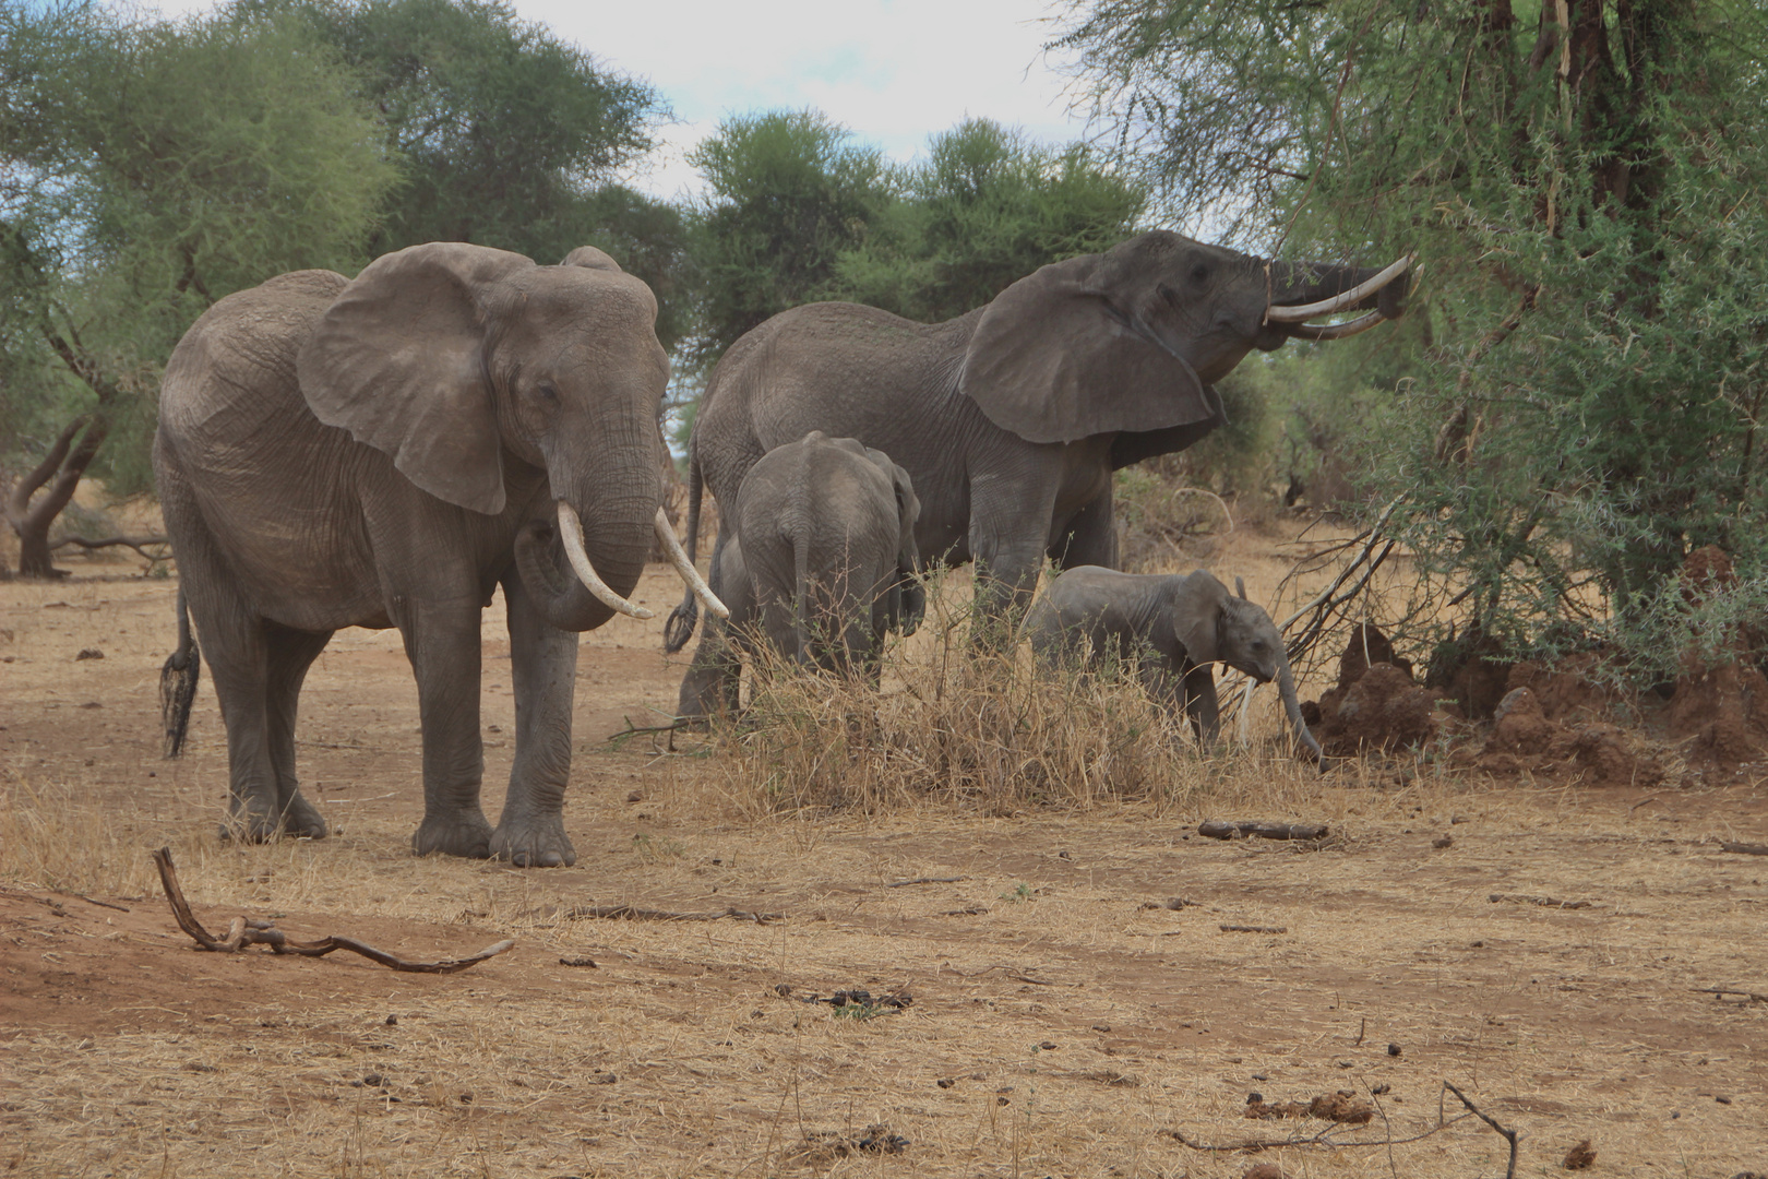
{"label": "curled trunk of the camera-facing adult elephant, behind its white tusk", "polygon": [[557,516],[530,520],[516,536],[516,571],[541,617],[560,631],[592,631],[615,612],[651,617],[624,599],[656,539],[656,474],[645,467],[612,491],[583,479],[553,486],[568,488]]}

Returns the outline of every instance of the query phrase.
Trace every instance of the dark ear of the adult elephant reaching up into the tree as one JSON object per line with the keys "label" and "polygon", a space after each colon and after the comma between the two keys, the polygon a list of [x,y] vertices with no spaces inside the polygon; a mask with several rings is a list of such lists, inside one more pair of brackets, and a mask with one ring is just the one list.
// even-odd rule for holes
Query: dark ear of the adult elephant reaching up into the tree
{"label": "dark ear of the adult elephant reaching up into the tree", "polygon": [[1130,278],[1123,265],[1082,255],[1008,286],[964,354],[964,392],[1027,442],[1213,419],[1197,373],[1135,315]]}

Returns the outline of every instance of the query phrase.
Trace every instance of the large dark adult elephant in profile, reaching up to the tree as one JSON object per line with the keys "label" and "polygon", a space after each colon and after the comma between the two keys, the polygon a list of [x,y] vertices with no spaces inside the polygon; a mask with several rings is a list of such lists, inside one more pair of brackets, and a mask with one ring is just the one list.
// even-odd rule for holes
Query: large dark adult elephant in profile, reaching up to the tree
{"label": "large dark adult elephant in profile, reaching up to the tree", "polygon": [[[1153,232],[1047,265],[944,323],[850,302],[781,311],[730,346],[700,403],[690,553],[704,488],[732,504],[762,454],[820,430],[909,470],[921,557],[974,559],[994,612],[1029,596],[1045,555],[1116,566],[1112,472],[1222,426],[1211,382],[1252,348],[1397,318],[1406,265],[1266,262]],[[1349,309],[1370,313],[1307,322]],[[690,596],[670,615],[668,650],[695,617]]]}

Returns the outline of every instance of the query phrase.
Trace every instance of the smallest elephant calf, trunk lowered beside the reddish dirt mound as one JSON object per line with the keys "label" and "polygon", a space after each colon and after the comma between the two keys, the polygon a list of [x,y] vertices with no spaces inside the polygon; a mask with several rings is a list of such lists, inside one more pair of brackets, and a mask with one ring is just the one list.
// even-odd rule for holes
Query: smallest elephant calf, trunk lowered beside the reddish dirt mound
{"label": "smallest elephant calf, trunk lowered beside the reddish dirt mound", "polygon": [[1220,730],[1213,663],[1261,684],[1275,679],[1296,739],[1319,762],[1321,746],[1296,704],[1284,636],[1271,615],[1246,599],[1245,583],[1236,578],[1236,585],[1239,597],[1202,569],[1179,576],[1075,566],[1050,582],[1025,615],[1025,633],[1045,666],[1116,652],[1140,670],[1149,695],[1185,707],[1204,742]]}

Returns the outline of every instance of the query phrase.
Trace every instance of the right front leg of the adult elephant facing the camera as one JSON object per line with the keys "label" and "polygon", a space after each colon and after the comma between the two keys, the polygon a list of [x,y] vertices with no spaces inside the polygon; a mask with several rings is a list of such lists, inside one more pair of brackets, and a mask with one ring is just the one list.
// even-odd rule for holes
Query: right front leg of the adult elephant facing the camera
{"label": "right front leg of the adult elephant facing the camera", "polygon": [[564,833],[571,781],[571,705],[576,635],[546,626],[522,578],[504,580],[509,603],[509,673],[516,693],[516,760],[492,856],[518,868],[569,868],[576,848]]}

